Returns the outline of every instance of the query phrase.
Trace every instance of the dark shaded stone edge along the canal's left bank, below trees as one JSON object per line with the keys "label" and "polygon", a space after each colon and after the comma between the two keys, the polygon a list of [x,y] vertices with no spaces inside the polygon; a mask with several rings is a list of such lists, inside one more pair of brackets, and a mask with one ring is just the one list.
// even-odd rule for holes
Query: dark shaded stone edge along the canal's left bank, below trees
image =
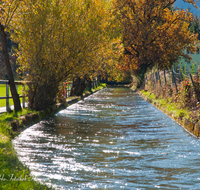
{"label": "dark shaded stone edge along the canal's left bank, below trees", "polygon": [[[102,88],[103,89],[103,88]],[[57,103],[54,106],[49,107],[46,110],[39,111],[38,113],[31,113],[28,115],[24,115],[18,118],[18,120],[12,120],[10,122],[10,126],[14,132],[17,134],[20,133],[21,131],[25,130],[27,127],[34,125],[41,120],[43,120],[46,117],[52,116],[56,114],[57,112],[66,109],[68,106],[77,103],[78,101],[92,95],[93,93],[96,93],[99,90],[93,90],[93,92],[87,92],[83,94],[83,96],[76,96],[68,99],[66,103]]]}

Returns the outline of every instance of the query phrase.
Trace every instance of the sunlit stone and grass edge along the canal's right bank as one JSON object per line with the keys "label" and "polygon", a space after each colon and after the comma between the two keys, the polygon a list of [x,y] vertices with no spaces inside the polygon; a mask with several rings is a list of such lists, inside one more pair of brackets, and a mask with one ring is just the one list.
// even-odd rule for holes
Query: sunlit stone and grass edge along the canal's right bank
{"label": "sunlit stone and grass edge along the canal's right bank", "polygon": [[142,98],[144,98],[146,101],[148,101],[153,106],[155,106],[157,109],[159,109],[160,111],[162,111],[163,113],[165,113],[167,116],[169,116],[171,119],[173,119],[174,121],[176,121],[190,135],[192,135],[195,138],[200,139],[200,122],[198,122],[198,123],[192,123],[191,121],[189,121],[188,119],[186,119],[184,117],[179,117],[179,118],[175,117],[173,115],[173,113],[166,111],[165,108],[162,105],[160,105],[159,103],[153,102],[149,97],[143,95],[139,90],[137,91],[137,93]]}

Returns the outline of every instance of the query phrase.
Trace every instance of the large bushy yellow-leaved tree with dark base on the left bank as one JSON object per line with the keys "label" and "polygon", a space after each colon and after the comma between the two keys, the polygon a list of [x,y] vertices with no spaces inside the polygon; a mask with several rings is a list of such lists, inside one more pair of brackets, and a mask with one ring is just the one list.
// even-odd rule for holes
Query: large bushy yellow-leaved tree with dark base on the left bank
{"label": "large bushy yellow-leaved tree with dark base on the left bank", "polygon": [[20,5],[12,38],[19,44],[20,71],[31,82],[31,109],[53,105],[66,78],[96,74],[102,47],[110,42],[104,33],[109,6],[103,0],[27,0]]}

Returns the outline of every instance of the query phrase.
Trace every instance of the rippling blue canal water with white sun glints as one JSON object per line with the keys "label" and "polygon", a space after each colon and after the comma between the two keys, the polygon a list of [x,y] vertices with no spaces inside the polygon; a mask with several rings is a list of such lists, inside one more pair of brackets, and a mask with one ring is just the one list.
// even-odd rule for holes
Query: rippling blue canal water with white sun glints
{"label": "rippling blue canal water with white sun glints", "polygon": [[106,88],[14,139],[57,189],[200,189],[200,141],[129,88]]}

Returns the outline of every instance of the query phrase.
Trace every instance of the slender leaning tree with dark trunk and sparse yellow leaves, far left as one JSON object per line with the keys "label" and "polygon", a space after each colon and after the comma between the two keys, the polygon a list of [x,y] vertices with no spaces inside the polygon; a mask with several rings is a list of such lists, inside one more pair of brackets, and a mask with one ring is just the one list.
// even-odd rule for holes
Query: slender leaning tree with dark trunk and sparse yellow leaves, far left
{"label": "slender leaning tree with dark trunk and sparse yellow leaves, far left", "polygon": [[8,47],[7,47],[7,32],[6,30],[8,29],[8,26],[10,25],[10,22],[13,18],[13,15],[15,14],[18,6],[20,4],[19,0],[11,0],[11,1],[6,1],[2,0],[0,1],[0,36],[1,36],[1,43],[2,43],[2,54],[4,57],[4,62],[6,66],[6,71],[9,79],[9,85],[10,85],[10,91],[12,94],[13,102],[14,102],[14,109],[15,111],[20,111],[21,105],[20,105],[20,99],[19,99],[19,94],[17,93],[16,87],[15,87],[15,82],[14,82],[14,77],[13,77],[13,72],[9,60],[9,55],[8,55]]}

